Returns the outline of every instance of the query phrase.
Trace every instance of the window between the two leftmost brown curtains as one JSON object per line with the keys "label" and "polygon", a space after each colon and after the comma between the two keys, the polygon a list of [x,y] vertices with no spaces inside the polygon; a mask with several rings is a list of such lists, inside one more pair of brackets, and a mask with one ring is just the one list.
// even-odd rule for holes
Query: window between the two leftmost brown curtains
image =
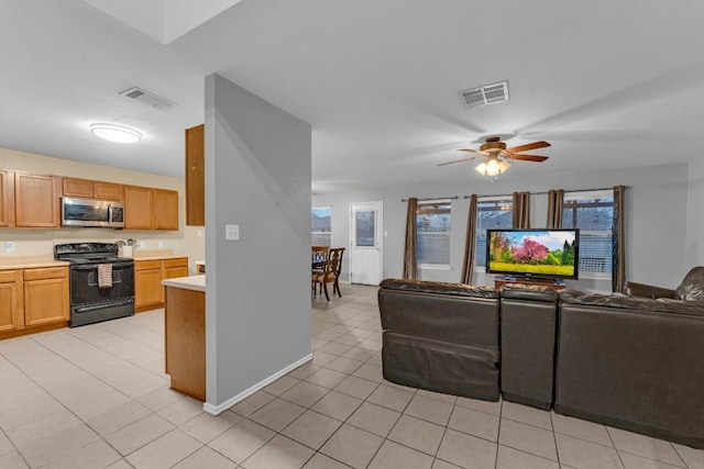
{"label": "window between the two leftmost brown curtains", "polygon": [[450,201],[418,202],[416,255],[420,267],[450,267]]}

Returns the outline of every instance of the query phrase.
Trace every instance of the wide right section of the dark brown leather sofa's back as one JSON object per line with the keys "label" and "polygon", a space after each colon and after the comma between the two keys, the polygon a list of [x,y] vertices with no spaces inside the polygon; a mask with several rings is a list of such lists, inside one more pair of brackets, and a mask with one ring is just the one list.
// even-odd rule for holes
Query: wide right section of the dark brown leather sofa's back
{"label": "wide right section of the dark brown leather sofa's back", "polygon": [[704,302],[560,293],[554,410],[704,448]]}

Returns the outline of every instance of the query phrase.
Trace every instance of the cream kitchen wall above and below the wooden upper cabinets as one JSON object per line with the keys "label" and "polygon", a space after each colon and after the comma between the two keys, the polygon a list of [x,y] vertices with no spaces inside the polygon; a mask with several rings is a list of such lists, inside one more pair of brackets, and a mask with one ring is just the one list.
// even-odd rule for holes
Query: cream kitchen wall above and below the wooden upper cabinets
{"label": "cream kitchen wall above and below the wooden upper cabinets", "polygon": [[[0,228],[0,256],[8,256],[4,242],[14,242],[14,256],[53,255],[54,245],[62,243],[102,242],[136,238],[146,250],[172,249],[188,256],[188,267],[196,272],[195,261],[205,258],[205,228],[186,226],[185,181],[180,178],[118,169],[68,159],[0,148],[0,169],[69,176],[133,186],[146,186],[178,191],[178,231],[135,231],[112,228],[63,227],[59,230]],[[200,234],[200,236],[199,236]],[[163,244],[160,247],[160,243]],[[135,252],[139,252],[136,248]]]}

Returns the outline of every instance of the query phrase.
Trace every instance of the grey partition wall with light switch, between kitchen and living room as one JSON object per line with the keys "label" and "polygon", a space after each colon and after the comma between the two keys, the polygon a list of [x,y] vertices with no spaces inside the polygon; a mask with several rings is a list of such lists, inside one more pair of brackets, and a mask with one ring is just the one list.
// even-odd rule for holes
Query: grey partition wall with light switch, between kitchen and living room
{"label": "grey partition wall with light switch, between kitchen and living room", "polygon": [[310,154],[309,124],[206,77],[209,412],[310,357]]}

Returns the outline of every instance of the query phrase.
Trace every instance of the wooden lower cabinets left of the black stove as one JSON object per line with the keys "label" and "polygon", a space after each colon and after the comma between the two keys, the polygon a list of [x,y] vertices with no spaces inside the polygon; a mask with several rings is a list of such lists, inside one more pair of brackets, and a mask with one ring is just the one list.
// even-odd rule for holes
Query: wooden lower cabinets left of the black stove
{"label": "wooden lower cabinets left of the black stove", "polygon": [[68,267],[0,270],[0,339],[66,327]]}

